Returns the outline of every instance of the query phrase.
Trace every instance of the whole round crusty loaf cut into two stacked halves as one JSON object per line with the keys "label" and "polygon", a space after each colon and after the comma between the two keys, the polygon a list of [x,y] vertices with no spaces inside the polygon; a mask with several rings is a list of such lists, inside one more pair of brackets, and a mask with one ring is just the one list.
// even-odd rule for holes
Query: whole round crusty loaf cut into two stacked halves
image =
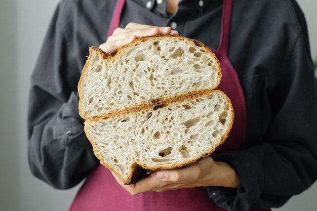
{"label": "whole round crusty loaf cut into two stacked halves", "polygon": [[220,78],[215,55],[179,35],[142,37],[113,57],[90,48],[78,93],[95,155],[125,184],[209,156],[234,116]]}

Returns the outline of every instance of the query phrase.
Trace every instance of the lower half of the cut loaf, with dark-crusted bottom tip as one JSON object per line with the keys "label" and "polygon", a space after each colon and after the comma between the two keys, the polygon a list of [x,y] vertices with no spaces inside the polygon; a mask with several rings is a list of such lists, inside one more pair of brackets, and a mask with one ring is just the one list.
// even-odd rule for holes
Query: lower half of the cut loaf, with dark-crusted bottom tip
{"label": "lower half of the cut loaf, with dark-crusted bottom tip", "polygon": [[233,109],[219,90],[85,122],[102,164],[125,184],[138,170],[170,170],[209,156],[228,136]]}

